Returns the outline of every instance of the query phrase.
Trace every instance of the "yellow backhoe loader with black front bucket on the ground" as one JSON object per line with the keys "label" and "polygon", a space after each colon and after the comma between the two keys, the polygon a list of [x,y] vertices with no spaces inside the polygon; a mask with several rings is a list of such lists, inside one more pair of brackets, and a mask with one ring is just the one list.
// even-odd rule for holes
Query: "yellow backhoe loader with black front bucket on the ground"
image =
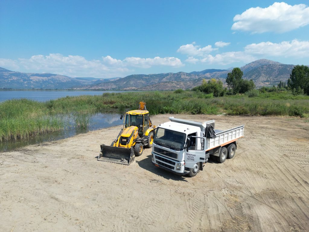
{"label": "yellow backhoe loader with black front bucket on the ground", "polygon": [[135,156],[142,155],[144,148],[152,147],[154,127],[146,110],[146,103],[141,101],[138,110],[125,113],[123,129],[112,144],[100,145],[98,160],[129,165]]}

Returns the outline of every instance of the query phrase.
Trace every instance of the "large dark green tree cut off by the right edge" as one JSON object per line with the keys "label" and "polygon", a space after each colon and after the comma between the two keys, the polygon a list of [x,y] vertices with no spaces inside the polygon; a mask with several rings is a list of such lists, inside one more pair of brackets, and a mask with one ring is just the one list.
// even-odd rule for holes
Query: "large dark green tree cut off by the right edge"
{"label": "large dark green tree cut off by the right edge", "polygon": [[[288,88],[303,89],[304,92],[309,95],[309,67],[305,65],[296,65],[290,78],[288,79]],[[298,91],[297,91],[298,92]]]}

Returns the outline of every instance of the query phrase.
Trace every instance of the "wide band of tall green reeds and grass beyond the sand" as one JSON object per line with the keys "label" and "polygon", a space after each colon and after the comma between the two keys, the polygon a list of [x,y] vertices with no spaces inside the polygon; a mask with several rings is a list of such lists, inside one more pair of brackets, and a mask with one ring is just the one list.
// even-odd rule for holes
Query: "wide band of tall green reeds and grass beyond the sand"
{"label": "wide band of tall green reeds and grass beyond the sand", "polygon": [[260,93],[258,96],[236,95],[213,97],[194,91],[150,91],[104,93],[63,97],[47,102],[27,99],[0,103],[0,140],[25,138],[63,130],[67,120],[74,126],[87,128],[90,114],[108,108],[135,110],[146,102],[150,114],[222,114],[309,116],[309,96],[288,92]]}

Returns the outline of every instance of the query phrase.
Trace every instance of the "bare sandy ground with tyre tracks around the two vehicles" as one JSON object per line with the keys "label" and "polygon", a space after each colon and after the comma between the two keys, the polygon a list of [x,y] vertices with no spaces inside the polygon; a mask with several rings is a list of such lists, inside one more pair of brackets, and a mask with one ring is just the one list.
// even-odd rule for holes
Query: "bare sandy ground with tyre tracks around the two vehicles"
{"label": "bare sandy ground with tyre tracks around the two vehicles", "polygon": [[97,161],[121,126],[0,153],[0,231],[308,231],[308,119],[174,116],[244,124],[236,156],[193,178],[153,166],[151,149]]}

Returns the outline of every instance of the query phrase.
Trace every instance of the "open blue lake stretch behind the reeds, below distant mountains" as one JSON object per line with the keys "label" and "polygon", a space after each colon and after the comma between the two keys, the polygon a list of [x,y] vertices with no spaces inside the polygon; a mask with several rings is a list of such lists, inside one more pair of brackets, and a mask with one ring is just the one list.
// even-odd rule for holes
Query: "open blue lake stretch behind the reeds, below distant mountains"
{"label": "open blue lake stretch behind the reeds, below distant mountains", "polygon": [[10,99],[27,98],[35,101],[49,101],[66,96],[101,95],[106,92],[136,92],[136,91],[40,91],[40,90],[16,90],[0,91],[0,102]]}

